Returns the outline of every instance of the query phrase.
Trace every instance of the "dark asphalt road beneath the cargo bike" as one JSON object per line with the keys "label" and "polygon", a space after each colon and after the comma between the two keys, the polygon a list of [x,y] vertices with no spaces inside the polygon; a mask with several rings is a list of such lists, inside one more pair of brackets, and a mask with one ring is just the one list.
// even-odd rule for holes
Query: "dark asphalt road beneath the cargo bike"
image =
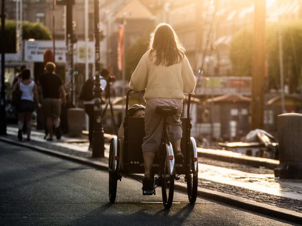
{"label": "dark asphalt road beneath the cargo bike", "polygon": [[108,199],[108,173],[0,142],[1,225],[286,225],[265,215],[176,192],[170,210],[161,189],[142,196],[141,184],[118,182]]}

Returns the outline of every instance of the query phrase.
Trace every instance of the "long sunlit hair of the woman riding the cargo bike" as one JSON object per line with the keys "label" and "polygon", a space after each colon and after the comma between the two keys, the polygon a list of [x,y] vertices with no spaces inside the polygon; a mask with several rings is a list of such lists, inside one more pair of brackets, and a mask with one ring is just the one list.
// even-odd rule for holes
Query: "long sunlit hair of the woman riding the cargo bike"
{"label": "long sunlit hair of the woman riding the cargo bike", "polygon": [[182,61],[185,48],[180,43],[175,31],[169,24],[159,24],[152,35],[149,44],[150,55],[156,51],[156,65],[171,66]]}

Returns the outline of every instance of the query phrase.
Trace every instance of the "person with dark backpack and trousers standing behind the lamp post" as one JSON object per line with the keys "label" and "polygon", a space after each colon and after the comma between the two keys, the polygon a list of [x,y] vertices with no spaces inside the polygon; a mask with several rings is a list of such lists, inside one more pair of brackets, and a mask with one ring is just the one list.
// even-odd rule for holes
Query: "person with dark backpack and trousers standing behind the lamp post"
{"label": "person with dark backpack and trousers standing behind the lamp post", "polygon": [[[107,81],[105,78],[107,78],[109,74],[109,71],[106,69],[103,69],[101,71],[101,76],[100,76],[100,81],[101,81],[101,88],[105,90]],[[81,90],[79,99],[84,100],[84,107],[85,107],[85,112],[89,117],[89,148],[92,149],[92,133],[94,129],[94,103],[95,103],[95,98],[94,98],[94,85],[95,85],[95,80],[96,76],[93,76],[84,83],[83,88]],[[103,102],[103,101],[102,101]]]}

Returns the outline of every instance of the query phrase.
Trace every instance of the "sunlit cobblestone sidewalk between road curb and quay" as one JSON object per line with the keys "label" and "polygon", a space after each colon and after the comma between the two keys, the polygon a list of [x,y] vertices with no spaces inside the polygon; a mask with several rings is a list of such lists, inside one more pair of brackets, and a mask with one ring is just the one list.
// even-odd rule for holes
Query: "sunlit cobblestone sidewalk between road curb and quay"
{"label": "sunlit cobblestone sidewalk between road curb and quay", "polygon": [[[16,142],[18,141],[16,134],[17,128],[8,127],[8,136],[5,138]],[[32,141],[23,143],[100,162],[103,165],[108,164],[110,135],[106,135],[105,158],[99,159],[91,158],[92,152],[88,150],[89,143],[85,135],[78,139],[63,136],[60,141],[53,142],[46,142],[43,137],[43,132],[33,131]],[[272,169],[261,166],[264,163],[270,163],[269,166],[278,165],[277,160],[202,148],[198,148],[198,152],[199,187],[302,213],[302,180],[274,178]],[[209,153],[208,156],[211,158],[202,157],[204,153]],[[229,156],[228,158],[236,158],[237,162],[215,160],[213,159],[215,156],[218,159],[219,156],[224,156],[223,158]],[[253,160],[261,167],[239,164],[240,159]],[[184,179],[181,178],[180,182],[184,183]]]}

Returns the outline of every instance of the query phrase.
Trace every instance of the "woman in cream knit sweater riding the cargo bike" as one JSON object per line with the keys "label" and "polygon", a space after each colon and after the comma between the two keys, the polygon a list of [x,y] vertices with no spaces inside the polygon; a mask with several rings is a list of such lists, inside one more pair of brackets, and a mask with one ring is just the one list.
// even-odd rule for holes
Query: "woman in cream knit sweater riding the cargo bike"
{"label": "woman in cream knit sweater riding the cargo bike", "polygon": [[142,190],[153,190],[151,170],[163,133],[163,117],[156,114],[156,106],[172,105],[177,115],[168,117],[169,139],[173,144],[176,162],[183,161],[180,149],[184,93],[192,93],[196,85],[185,49],[172,27],[159,24],[150,40],[149,50],[140,59],[131,76],[129,86],[133,90],[145,89],[145,137],[142,143],[145,175]]}

